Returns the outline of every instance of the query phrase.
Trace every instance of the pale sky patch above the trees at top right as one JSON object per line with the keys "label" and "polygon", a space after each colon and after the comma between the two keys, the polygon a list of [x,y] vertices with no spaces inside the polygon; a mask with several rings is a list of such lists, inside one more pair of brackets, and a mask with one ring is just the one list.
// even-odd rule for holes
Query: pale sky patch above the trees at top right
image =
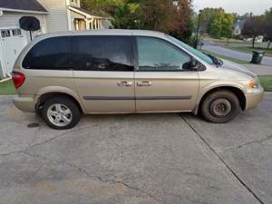
{"label": "pale sky patch above the trees at top right", "polygon": [[262,15],[272,7],[272,0],[193,0],[193,5],[195,11],[204,7],[222,7],[227,13]]}

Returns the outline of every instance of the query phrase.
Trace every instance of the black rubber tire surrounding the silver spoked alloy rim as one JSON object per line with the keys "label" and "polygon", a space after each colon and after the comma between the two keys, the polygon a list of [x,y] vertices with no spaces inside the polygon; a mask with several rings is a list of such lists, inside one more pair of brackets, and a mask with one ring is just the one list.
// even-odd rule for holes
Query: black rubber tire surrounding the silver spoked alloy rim
{"label": "black rubber tire surrounding the silver spoked alloy rim", "polygon": [[[67,124],[64,124],[62,126],[56,125],[53,123],[53,121],[50,120],[50,116],[48,116],[47,112],[49,111],[49,108],[53,107],[54,104],[61,104],[62,108],[66,107],[67,109],[64,111],[69,111],[71,113],[68,114],[70,122]],[[81,119],[81,111],[78,107],[78,105],[73,102],[72,99],[68,97],[53,97],[52,99],[48,100],[47,102],[44,103],[43,108],[41,110],[42,117],[44,119],[44,122],[49,125],[51,128],[55,130],[67,130],[67,129],[72,129]]]}

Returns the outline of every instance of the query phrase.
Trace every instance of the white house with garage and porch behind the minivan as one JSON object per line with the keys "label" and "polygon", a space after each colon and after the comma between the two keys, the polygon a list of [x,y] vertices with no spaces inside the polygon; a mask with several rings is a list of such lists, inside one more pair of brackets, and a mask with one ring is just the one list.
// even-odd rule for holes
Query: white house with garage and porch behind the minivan
{"label": "white house with garage and porch behind the minivan", "polygon": [[39,19],[41,30],[33,35],[112,26],[109,16],[81,8],[80,0],[0,1],[0,79],[12,72],[18,54],[30,42],[29,32],[20,29],[22,16]]}

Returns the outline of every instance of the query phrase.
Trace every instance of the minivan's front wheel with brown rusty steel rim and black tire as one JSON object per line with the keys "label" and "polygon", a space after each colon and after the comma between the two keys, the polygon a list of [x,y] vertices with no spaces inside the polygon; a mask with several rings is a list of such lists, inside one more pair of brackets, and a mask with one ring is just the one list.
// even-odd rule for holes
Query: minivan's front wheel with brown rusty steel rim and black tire
{"label": "minivan's front wheel with brown rusty steel rim and black tire", "polygon": [[240,112],[238,97],[229,91],[212,92],[200,105],[204,120],[213,123],[226,123]]}

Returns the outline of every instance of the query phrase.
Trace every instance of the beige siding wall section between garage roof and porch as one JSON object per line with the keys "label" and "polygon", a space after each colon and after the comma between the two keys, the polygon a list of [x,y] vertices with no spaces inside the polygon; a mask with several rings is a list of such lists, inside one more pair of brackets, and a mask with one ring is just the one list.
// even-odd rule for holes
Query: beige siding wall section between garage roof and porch
{"label": "beige siding wall section between garage roof and porch", "polygon": [[66,0],[39,0],[39,2],[49,11],[49,15],[46,15],[48,32],[69,30]]}

